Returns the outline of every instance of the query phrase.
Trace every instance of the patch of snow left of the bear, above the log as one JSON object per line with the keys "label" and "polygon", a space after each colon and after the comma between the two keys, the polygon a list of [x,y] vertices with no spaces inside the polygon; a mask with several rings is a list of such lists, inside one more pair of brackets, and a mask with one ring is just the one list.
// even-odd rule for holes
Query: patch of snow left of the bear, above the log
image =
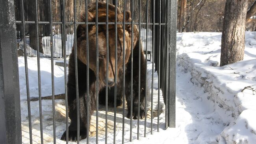
{"label": "patch of snow left of the bear, above the log", "polygon": [[[26,91],[26,73],[24,57],[19,57],[19,80],[20,80],[20,100],[27,99]],[[28,79],[30,97],[38,97],[38,71],[37,58],[28,57]],[[64,67],[55,65],[54,61],[54,93],[65,93],[64,82]],[[46,58],[40,59],[41,72],[41,95],[42,97],[52,95],[52,74],[51,74],[51,60]]]}

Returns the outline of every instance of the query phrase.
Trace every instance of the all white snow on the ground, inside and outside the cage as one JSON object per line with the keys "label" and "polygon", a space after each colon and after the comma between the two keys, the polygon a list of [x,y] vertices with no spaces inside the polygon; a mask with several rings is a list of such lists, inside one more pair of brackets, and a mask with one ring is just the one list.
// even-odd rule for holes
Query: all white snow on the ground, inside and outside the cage
{"label": "all white snow on the ground, inside and outside the cage", "polygon": [[[149,32],[150,33],[150,32]],[[149,36],[149,38],[151,38]],[[245,34],[243,61],[219,67],[221,33],[190,32],[177,34],[176,65],[176,128],[165,130],[165,106],[160,90],[160,112],[157,113],[158,76],[154,73],[153,85],[153,135],[150,135],[150,105],[147,115],[147,137],[144,136],[144,119],[132,121],[125,118],[124,142],[134,144],[254,144],[256,141],[256,92],[243,88],[256,88],[256,32]],[[145,43],[145,42],[144,42]],[[143,46],[145,45],[143,43]],[[54,60],[56,62],[57,60]],[[58,60],[61,61],[61,60]],[[40,59],[42,96],[51,95],[50,59]],[[38,97],[37,59],[28,58],[30,97]],[[24,57],[19,57],[22,142],[29,142],[28,108]],[[152,63],[148,62],[148,94],[150,104]],[[64,93],[64,68],[54,65],[55,94]],[[242,92],[243,90],[243,92]],[[39,102],[31,101],[33,143],[40,143]],[[55,101],[57,143],[65,131],[65,101]],[[45,143],[53,143],[52,100],[42,100],[43,136]],[[105,142],[105,107],[99,108],[99,143]],[[126,110],[127,111],[127,110]],[[126,113],[125,111],[125,113]],[[157,115],[160,131],[157,132]],[[95,143],[95,116],[90,127],[90,141]],[[117,108],[116,142],[122,142],[122,108]],[[85,143],[82,140],[81,143]],[[70,142],[74,143],[74,142]],[[108,111],[108,143],[113,143],[113,108]]]}

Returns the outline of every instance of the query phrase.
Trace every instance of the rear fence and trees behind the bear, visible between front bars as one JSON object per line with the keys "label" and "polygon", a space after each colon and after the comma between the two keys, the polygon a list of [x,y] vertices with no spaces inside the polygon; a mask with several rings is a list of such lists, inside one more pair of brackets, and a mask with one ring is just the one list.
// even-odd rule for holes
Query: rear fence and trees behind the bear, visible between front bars
{"label": "rear fence and trees behind the bear, visible between front bars", "polygon": [[[88,2],[93,2],[95,0],[88,0]],[[100,0],[99,0],[100,1]],[[106,2],[106,0],[101,0]],[[141,22],[146,23],[146,13],[147,7],[146,3],[152,4],[151,0],[141,0]],[[109,4],[114,4],[115,0],[109,0]],[[139,11],[139,0],[134,0],[134,11]],[[50,21],[50,10],[49,10],[50,2],[48,0],[38,0],[38,13],[39,13],[39,21],[41,22],[49,22]],[[52,21],[53,21],[53,38],[54,38],[54,50],[56,51],[54,54],[55,59],[63,58],[64,50],[61,49],[61,27],[62,18],[61,15],[62,9],[62,0],[52,0]],[[126,10],[131,10],[131,1],[127,0],[126,2]],[[124,6],[124,0],[118,0],[118,7],[122,10]],[[72,40],[74,38],[74,0],[65,0],[65,21],[69,24],[65,26],[66,31],[66,43],[67,43],[67,56],[71,53],[72,48]],[[79,20],[79,13],[85,9],[85,1],[84,0],[76,0],[76,21]],[[20,49],[23,50],[23,41],[22,41],[22,13],[21,12],[21,0],[15,0],[15,14],[16,20],[19,22],[17,24],[17,42],[19,43]],[[152,22],[152,5],[148,5],[148,22]],[[139,13],[134,14],[134,22],[139,22]],[[36,45],[36,27],[35,27],[35,0],[24,0],[24,15],[25,20],[31,23],[26,25],[26,44],[29,46],[27,50],[28,56],[36,57],[37,56],[37,45]],[[166,15],[165,15],[166,16]],[[142,39],[146,39],[146,25],[141,25],[142,31],[141,36]],[[152,25],[149,26],[151,31]],[[150,33],[149,33],[150,34]],[[145,43],[143,43],[143,48],[145,48]],[[50,58],[50,24],[39,24],[39,50],[41,58]],[[152,45],[148,45],[148,60],[151,61],[151,51]]]}

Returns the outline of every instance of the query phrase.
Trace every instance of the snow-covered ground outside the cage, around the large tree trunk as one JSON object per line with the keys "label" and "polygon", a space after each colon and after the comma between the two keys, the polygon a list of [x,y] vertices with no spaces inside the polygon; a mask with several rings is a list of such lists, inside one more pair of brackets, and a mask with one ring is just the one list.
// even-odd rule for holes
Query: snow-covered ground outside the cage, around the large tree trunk
{"label": "snow-covered ground outside the cage, around the large tree trunk", "polygon": [[[176,128],[136,143],[255,144],[256,32],[244,61],[219,67],[221,33],[177,34]],[[158,139],[156,139],[158,138]]]}

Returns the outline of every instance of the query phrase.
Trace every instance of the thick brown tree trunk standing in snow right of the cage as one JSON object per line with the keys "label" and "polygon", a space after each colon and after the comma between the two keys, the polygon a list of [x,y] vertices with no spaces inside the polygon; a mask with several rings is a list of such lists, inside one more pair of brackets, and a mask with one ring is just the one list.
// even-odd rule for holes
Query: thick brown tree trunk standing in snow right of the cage
{"label": "thick brown tree trunk standing in snow right of the cage", "polygon": [[243,60],[247,6],[248,0],[226,0],[220,66]]}

